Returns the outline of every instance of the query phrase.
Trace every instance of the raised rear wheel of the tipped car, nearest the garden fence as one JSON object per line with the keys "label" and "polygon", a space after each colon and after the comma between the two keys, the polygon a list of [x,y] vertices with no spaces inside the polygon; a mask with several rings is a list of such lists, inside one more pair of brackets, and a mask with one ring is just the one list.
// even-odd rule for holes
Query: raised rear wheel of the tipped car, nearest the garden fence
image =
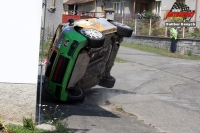
{"label": "raised rear wheel of the tipped car, nearest the garden fence", "polygon": [[117,26],[117,34],[124,37],[131,37],[133,29],[125,24],[110,21],[111,24]]}

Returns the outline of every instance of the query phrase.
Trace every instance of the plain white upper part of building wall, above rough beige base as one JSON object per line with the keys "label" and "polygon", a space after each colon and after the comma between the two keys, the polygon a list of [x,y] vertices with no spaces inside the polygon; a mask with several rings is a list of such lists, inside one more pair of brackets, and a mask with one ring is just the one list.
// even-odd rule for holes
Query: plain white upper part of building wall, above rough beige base
{"label": "plain white upper part of building wall, above rough beige base", "polygon": [[37,83],[41,0],[0,4],[0,82]]}

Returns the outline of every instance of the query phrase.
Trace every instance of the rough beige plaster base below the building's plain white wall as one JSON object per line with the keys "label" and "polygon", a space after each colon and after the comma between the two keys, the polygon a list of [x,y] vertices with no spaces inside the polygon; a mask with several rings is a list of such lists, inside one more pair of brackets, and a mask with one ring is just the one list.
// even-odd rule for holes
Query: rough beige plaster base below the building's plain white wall
{"label": "rough beige plaster base below the building's plain white wall", "polygon": [[36,84],[0,83],[0,117],[11,122],[22,122],[31,115],[35,119],[36,91]]}

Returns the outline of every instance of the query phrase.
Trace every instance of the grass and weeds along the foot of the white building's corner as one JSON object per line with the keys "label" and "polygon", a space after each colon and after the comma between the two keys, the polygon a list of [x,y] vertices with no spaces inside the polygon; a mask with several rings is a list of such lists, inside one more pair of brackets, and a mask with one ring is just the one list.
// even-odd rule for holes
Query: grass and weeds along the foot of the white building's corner
{"label": "grass and weeds along the foot of the white building's corner", "polygon": [[30,117],[23,117],[23,126],[7,124],[5,125],[3,119],[0,116],[0,133],[68,133],[67,120],[62,120],[65,113],[61,112],[59,105],[55,108],[48,107],[48,105],[42,105],[42,114],[44,115],[44,124],[49,124],[52,129],[43,130],[39,129],[34,122],[32,115]]}

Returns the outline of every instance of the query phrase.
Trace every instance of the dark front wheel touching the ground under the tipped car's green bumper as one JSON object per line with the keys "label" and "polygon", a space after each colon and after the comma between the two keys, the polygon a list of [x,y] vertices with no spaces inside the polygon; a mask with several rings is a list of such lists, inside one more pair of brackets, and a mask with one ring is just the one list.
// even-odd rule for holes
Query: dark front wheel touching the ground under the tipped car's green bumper
{"label": "dark front wheel touching the ground under the tipped car's green bumper", "polygon": [[85,91],[81,88],[74,88],[68,91],[69,97],[68,101],[70,102],[83,102],[85,99]]}

